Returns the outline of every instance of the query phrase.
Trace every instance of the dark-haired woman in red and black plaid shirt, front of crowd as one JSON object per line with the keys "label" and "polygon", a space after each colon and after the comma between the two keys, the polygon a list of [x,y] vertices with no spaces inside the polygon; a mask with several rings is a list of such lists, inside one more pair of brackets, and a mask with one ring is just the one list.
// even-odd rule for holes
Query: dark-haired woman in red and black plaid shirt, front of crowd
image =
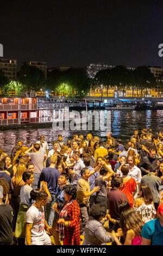
{"label": "dark-haired woman in red and black plaid shirt, front of crowd", "polygon": [[80,207],[77,203],[76,187],[65,185],[63,187],[65,204],[59,212],[57,231],[59,240],[64,245],[80,245]]}

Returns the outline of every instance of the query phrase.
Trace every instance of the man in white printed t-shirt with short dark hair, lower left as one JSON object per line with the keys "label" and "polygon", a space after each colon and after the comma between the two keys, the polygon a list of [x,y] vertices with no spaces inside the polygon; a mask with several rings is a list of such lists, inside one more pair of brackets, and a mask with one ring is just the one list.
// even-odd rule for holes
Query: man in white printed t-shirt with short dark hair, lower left
{"label": "man in white printed t-shirt with short dark hair, lower left", "polygon": [[37,192],[35,203],[27,211],[27,245],[51,245],[51,238],[48,234],[50,234],[52,228],[49,227],[45,221],[43,210],[43,206],[46,205],[47,199],[48,194],[45,191]]}

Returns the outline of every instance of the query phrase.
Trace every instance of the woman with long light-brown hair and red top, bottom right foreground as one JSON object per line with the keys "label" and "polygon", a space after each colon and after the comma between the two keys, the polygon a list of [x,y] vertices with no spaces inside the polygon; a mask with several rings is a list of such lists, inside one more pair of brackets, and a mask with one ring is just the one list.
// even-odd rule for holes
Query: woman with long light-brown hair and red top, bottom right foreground
{"label": "woman with long light-brown hair and red top, bottom right foreground", "polygon": [[[120,218],[120,227],[124,237],[124,245],[142,245],[141,228],[143,222],[139,215],[131,208],[122,211]],[[115,231],[112,230],[112,237],[117,245],[122,245],[118,240]]]}

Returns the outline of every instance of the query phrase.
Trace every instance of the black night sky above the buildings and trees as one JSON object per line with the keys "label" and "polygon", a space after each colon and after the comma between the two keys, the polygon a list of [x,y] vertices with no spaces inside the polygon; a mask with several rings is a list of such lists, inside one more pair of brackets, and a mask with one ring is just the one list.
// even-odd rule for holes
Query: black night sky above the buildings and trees
{"label": "black night sky above the buildings and trees", "polygon": [[4,57],[83,67],[159,65],[162,0],[1,1]]}

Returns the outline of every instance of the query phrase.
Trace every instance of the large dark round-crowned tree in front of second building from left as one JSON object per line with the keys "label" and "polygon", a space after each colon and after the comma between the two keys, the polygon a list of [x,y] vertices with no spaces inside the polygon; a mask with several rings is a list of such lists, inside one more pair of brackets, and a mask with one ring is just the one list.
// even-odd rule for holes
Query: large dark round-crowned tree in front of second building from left
{"label": "large dark round-crowned tree in front of second building from left", "polygon": [[18,72],[18,81],[26,86],[26,90],[37,91],[45,86],[45,76],[42,70],[25,64]]}

